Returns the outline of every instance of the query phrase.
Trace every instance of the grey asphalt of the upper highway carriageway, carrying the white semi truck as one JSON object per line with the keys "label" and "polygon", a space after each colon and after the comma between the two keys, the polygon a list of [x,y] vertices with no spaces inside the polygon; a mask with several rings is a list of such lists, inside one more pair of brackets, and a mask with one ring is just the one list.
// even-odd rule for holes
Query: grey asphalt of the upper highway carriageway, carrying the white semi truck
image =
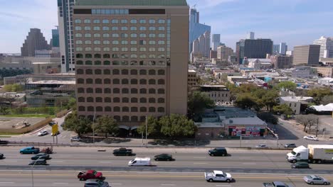
{"label": "grey asphalt of the upper highway carriageway, carrying the white semi truck", "polygon": [[[0,160],[0,169],[25,169],[32,154],[19,154],[21,147],[1,147],[6,159]],[[42,148],[42,147],[41,147]],[[115,169],[117,171],[206,171],[226,169],[233,172],[272,171],[276,173],[319,173],[333,174],[332,164],[310,164],[312,169],[290,169],[285,157],[288,150],[228,149],[228,157],[210,157],[208,148],[134,148],[132,157],[115,157],[109,147],[53,147],[55,154],[48,160],[49,166],[36,166],[36,169]],[[101,152],[102,151],[102,152]],[[104,152],[105,151],[105,152]],[[155,162],[151,167],[129,167],[127,163],[134,157],[154,157],[169,153],[172,162]]]}

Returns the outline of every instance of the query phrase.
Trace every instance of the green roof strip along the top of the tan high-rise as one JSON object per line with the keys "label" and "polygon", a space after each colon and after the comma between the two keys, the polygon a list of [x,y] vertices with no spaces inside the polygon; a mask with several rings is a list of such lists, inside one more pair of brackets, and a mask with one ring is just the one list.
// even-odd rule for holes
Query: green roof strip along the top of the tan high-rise
{"label": "green roof strip along the top of the tan high-rise", "polygon": [[77,0],[77,6],[187,6],[186,0]]}

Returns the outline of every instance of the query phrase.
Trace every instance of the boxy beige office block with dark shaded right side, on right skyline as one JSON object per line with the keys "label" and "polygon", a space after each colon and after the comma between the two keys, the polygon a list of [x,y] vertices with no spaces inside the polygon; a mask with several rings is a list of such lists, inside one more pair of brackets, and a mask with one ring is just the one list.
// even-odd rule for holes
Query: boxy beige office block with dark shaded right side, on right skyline
{"label": "boxy beige office block with dark shaded right side, on right skyline", "polygon": [[319,64],[320,45],[300,45],[294,47],[294,65],[316,66]]}

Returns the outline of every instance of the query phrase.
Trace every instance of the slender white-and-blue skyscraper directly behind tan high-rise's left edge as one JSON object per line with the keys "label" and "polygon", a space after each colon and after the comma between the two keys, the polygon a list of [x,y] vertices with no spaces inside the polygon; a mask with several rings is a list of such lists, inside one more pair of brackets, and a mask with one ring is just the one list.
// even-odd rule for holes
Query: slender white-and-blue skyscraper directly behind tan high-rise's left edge
{"label": "slender white-and-blue skyscraper directly behind tan high-rise's left edge", "polygon": [[58,0],[59,46],[61,72],[74,72],[73,6],[75,0]]}

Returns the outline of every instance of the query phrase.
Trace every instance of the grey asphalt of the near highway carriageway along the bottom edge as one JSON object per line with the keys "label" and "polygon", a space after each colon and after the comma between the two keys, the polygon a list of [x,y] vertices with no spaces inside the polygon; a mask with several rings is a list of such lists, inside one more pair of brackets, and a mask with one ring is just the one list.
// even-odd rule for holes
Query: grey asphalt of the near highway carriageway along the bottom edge
{"label": "grey asphalt of the near highway carriageway along the bottom edge", "polygon": [[[78,171],[34,171],[34,186],[83,186],[83,181],[78,181]],[[31,186],[31,171],[0,171],[0,186]],[[232,174],[235,179],[232,183],[208,183],[203,178],[203,173],[144,173],[144,172],[107,172],[103,171],[105,181],[111,186],[121,187],[156,187],[156,186],[262,186],[263,182],[283,181],[298,186],[309,186],[302,175],[269,175],[269,174]],[[332,181],[332,176],[324,176]]]}

